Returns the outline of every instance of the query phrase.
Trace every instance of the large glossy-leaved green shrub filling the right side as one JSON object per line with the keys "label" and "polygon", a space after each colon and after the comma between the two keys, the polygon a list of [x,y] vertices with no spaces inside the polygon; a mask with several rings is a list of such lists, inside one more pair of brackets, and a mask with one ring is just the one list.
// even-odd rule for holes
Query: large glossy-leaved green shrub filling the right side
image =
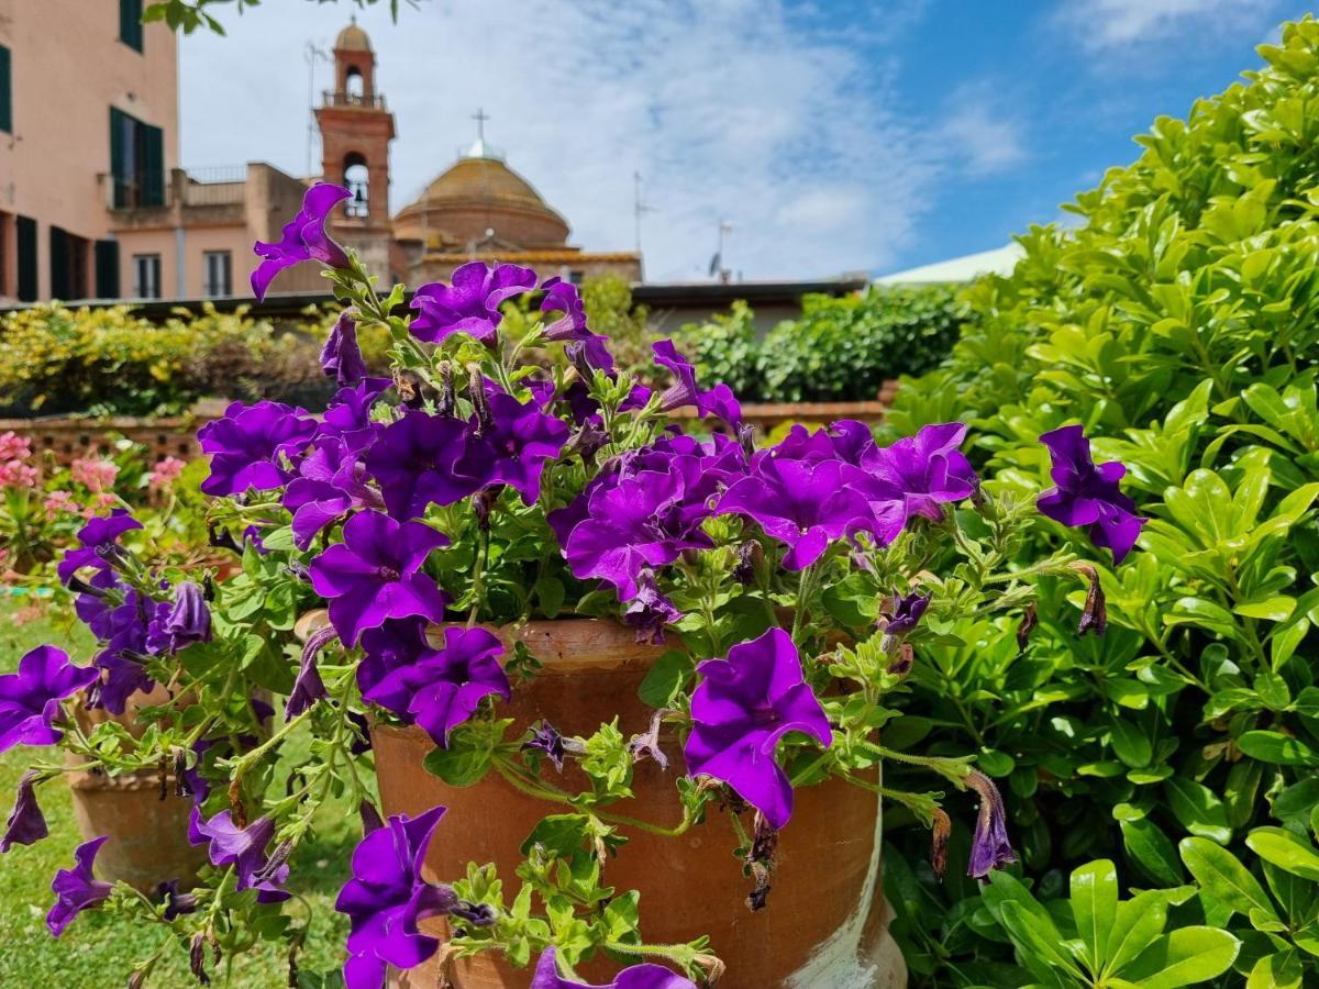
{"label": "large glossy-leaved green shrub filling the right side", "polygon": [[[1128,465],[1124,489],[1151,520],[1138,551],[1101,574],[1105,637],[1051,626],[1046,600],[1025,650],[1017,629],[968,616],[913,673],[909,712],[935,750],[980,749],[1046,898],[1100,854],[1124,885],[1178,886],[1198,876],[1184,844],[1177,854],[1195,836],[1286,899],[1254,839],[1274,820],[1315,824],[1319,24],[1290,24],[1260,51],[1264,69],[1187,121],[1159,119],[1134,165],[1078,196],[1078,227],[1033,228],[1012,276],[968,289],[962,339],[939,369],[904,380],[889,418],[898,434],[969,422],[968,455],[996,493],[1046,477],[1037,438],[1079,421],[1111,438],[1096,459]],[[1041,533],[1093,556],[1076,531]],[[909,861],[921,854],[910,829],[894,836]],[[918,977],[962,981],[950,973],[1009,957],[977,890],[919,868],[909,881],[925,910],[909,943]],[[1312,932],[1314,891],[1302,899],[1297,924]],[[1178,923],[1221,927],[1233,910],[1237,978],[1275,952],[1297,980],[1268,969],[1252,985],[1319,980],[1311,934],[1293,951],[1294,931],[1219,890]]]}

